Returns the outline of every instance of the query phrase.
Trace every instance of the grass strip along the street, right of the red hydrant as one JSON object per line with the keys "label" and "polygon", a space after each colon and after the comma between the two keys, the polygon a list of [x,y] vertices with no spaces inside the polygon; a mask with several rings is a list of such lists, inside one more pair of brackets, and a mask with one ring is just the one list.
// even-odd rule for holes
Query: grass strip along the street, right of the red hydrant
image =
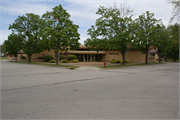
{"label": "grass strip along the street, right of the red hydrant", "polygon": [[126,65],[110,65],[110,66],[102,66],[102,67],[99,67],[99,68],[102,68],[102,69],[107,69],[107,68],[120,68],[120,67],[127,67],[127,66],[140,66],[140,65],[153,65],[153,64],[163,64],[164,62],[161,62],[161,63],[137,63],[137,64],[126,64]]}

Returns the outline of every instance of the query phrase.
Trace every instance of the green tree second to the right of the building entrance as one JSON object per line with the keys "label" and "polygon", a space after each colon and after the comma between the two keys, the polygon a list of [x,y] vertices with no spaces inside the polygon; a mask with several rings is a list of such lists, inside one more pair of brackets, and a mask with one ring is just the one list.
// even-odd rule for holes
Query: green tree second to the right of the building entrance
{"label": "green tree second to the right of the building entrance", "polygon": [[156,20],[154,13],[146,11],[135,20],[139,27],[136,31],[137,40],[134,41],[137,50],[142,51],[146,54],[146,61],[148,63],[148,48],[153,45],[153,27],[160,21]]}

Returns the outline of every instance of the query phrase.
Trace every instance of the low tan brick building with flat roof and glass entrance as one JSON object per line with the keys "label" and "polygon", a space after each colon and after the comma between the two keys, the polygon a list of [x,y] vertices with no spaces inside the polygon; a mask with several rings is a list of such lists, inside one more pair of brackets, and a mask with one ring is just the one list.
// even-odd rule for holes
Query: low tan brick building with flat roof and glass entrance
{"label": "low tan brick building with flat roof and glass entrance", "polygon": [[[154,47],[150,47],[149,50],[154,49]],[[126,52],[125,59],[129,60],[132,63],[144,63],[145,62],[145,54],[141,54],[141,51],[137,51],[134,48],[130,48]],[[151,52],[150,52],[151,53]],[[149,53],[149,56],[150,56]],[[97,51],[89,51],[89,49],[85,45],[80,45],[77,50],[68,50],[63,51],[61,54],[63,55],[76,55],[79,62],[110,62],[112,59],[122,60],[122,55],[119,51],[115,50],[99,50]],[[55,59],[54,50],[44,50],[41,53],[33,54],[31,57],[31,61],[43,61],[38,59],[38,57],[43,57],[44,55],[51,55]],[[149,59],[148,62],[156,62],[156,59]]]}

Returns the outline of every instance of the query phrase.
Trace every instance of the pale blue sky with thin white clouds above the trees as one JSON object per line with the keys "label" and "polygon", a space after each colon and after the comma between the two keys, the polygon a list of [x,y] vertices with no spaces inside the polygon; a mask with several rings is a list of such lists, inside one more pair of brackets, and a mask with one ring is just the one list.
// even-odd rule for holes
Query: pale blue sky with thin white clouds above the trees
{"label": "pale blue sky with thin white clouds above the trees", "polygon": [[[162,19],[164,25],[168,25],[172,17],[173,6],[167,3],[167,0],[124,0],[127,5],[134,10],[133,19],[137,18],[145,11],[154,13],[154,18]],[[26,13],[43,15],[46,11],[52,11],[52,8],[61,4],[71,15],[71,20],[79,25],[81,44],[88,38],[87,30],[100,16],[96,15],[99,6],[110,7],[116,3],[120,6],[123,0],[0,0],[0,44],[7,40],[11,31],[8,30],[9,24],[12,24],[18,16]]]}

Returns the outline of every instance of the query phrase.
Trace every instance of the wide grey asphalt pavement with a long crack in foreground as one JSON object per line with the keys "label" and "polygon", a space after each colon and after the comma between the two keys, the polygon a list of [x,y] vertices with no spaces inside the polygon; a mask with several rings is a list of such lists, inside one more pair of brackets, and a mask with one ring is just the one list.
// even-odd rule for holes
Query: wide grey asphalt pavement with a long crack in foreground
{"label": "wide grey asphalt pavement with a long crack in foreground", "polygon": [[179,63],[101,70],[1,62],[1,119],[179,119]]}

